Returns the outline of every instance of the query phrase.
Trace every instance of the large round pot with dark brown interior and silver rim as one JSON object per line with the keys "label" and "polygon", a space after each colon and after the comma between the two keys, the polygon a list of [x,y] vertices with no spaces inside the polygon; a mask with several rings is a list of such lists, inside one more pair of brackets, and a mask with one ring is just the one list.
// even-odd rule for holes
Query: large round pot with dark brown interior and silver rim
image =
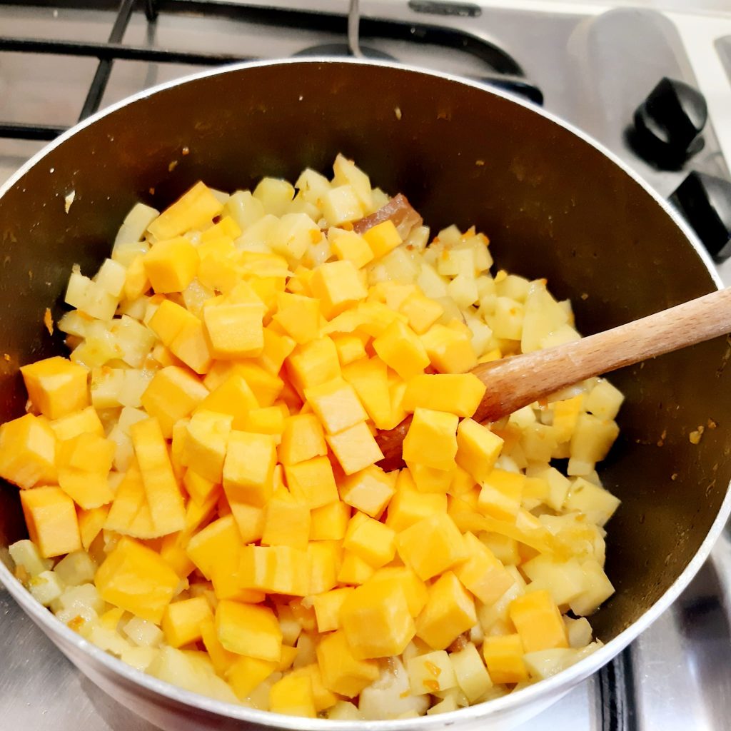
{"label": "large round pot with dark brown interior and silver rim", "polygon": [[[187,154],[183,154],[183,148]],[[61,136],[0,189],[0,419],[23,413],[18,366],[64,352],[48,336],[73,264],[94,270],[133,203],[156,208],[194,181],[253,186],[325,172],[338,151],[432,230],[474,224],[501,268],[546,277],[584,334],[716,289],[711,261],[657,194],[612,154],[499,91],[382,62],[292,60],[205,72],[127,99]],[[70,194],[73,202],[68,207]],[[68,211],[66,208],[68,207]],[[602,479],[622,505],[608,526],[616,594],[592,618],[605,646],[518,693],[442,716],[357,723],[364,731],[507,729],[608,662],[673,602],[731,510],[726,338],[618,371],[621,436]],[[711,421],[709,421],[711,420]],[[699,444],[689,433],[706,428]],[[57,621],[12,577],[26,536],[18,489],[0,485],[0,581],[92,681],[164,729],[354,729],[210,700],[139,673]],[[7,564],[7,565],[6,565]],[[0,621],[1,626],[1,621]]]}

